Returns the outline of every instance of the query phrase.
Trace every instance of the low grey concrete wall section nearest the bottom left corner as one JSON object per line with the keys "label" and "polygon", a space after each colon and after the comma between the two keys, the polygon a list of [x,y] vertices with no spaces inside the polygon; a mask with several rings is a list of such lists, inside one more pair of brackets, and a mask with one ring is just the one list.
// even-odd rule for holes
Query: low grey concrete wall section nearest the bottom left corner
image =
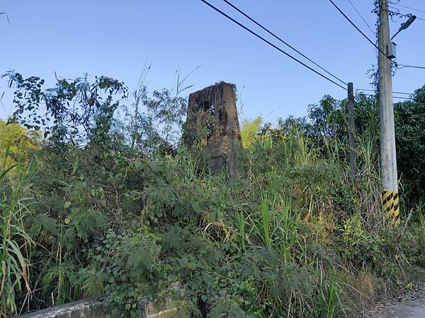
{"label": "low grey concrete wall section nearest the bottom left corner", "polygon": [[64,305],[49,307],[36,312],[28,312],[21,318],[71,318],[102,317],[104,315],[103,300],[78,300]]}

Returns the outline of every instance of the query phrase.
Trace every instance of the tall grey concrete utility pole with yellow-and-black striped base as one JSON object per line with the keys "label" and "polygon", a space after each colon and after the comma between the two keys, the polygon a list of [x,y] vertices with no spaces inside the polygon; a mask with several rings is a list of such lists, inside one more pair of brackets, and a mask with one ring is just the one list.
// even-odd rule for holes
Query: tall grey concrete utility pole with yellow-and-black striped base
{"label": "tall grey concrete utility pole with yellow-and-black striped base", "polygon": [[[390,25],[388,0],[379,1],[379,98],[380,98],[380,149],[382,174],[382,203],[387,217],[397,225],[400,221],[397,187],[397,158],[395,155],[395,124],[392,105],[392,76],[390,52]],[[385,52],[385,54],[382,54]]]}

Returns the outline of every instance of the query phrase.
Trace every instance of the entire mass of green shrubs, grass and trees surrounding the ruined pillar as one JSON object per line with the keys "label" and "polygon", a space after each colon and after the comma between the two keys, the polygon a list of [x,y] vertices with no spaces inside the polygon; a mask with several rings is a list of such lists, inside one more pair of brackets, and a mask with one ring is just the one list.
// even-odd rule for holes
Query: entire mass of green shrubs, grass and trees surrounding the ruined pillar
{"label": "entire mass of green shrubs, grass and trees surrounding the ruined pillar", "polygon": [[8,76],[16,112],[15,124],[0,124],[2,317],[98,296],[111,317],[137,317],[144,295],[171,297],[194,317],[348,316],[421,280],[425,87],[396,105],[403,220],[394,228],[380,201],[375,98],[356,100],[358,185],[346,102],[329,96],[306,118],[244,122],[246,148],[228,180],[210,173],[200,145],[179,141],[184,81],[152,94],[141,81],[128,94],[106,77],[45,90],[40,78]]}

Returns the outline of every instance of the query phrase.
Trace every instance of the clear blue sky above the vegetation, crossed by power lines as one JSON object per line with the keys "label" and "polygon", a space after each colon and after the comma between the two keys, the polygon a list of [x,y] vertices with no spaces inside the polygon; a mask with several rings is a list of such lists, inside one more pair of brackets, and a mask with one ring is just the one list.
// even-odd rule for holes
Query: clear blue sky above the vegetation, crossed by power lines
{"label": "clear blue sky above the vegetation, crossed by power lines", "polygon": [[[222,0],[209,0],[249,22]],[[328,0],[230,0],[354,88],[370,88],[366,72],[376,64],[375,49]],[[348,0],[334,0],[367,34],[373,34]],[[374,28],[373,0],[351,0]],[[393,2],[397,2],[394,0]],[[424,0],[399,4],[425,11]],[[425,13],[400,8],[404,13]],[[217,81],[237,85],[243,117],[274,121],[302,116],[323,95],[346,98],[346,92],[268,47],[199,0],[0,0],[0,73],[15,69],[46,80],[75,78],[87,72],[124,81],[133,88],[145,61],[152,64],[149,89],[170,88],[176,69],[182,74],[200,66],[188,79],[198,90]],[[403,20],[391,24],[392,33]],[[265,35],[255,25],[253,30]],[[425,20],[397,35],[400,64],[425,66]],[[265,35],[266,36],[266,35]],[[268,37],[271,38],[271,37]],[[273,39],[273,42],[277,43]],[[283,49],[288,48],[279,45]],[[290,49],[288,49],[290,52]],[[395,91],[412,92],[425,84],[425,70],[402,69]],[[6,81],[0,81],[0,95]],[[190,93],[190,92],[187,92]],[[6,91],[0,118],[13,112]]]}

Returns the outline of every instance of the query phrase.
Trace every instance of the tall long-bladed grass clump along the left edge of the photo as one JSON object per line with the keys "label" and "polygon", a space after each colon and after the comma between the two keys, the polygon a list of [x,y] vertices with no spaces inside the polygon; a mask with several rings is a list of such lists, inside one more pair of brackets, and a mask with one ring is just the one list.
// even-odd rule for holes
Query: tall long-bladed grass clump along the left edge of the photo
{"label": "tall long-bladed grass clump along the left edge of the photo", "polygon": [[24,297],[25,305],[31,293],[30,263],[33,240],[23,225],[30,217],[30,187],[37,161],[24,165],[8,160],[9,147],[1,158],[0,166],[0,316],[9,317],[23,308],[16,304]]}

